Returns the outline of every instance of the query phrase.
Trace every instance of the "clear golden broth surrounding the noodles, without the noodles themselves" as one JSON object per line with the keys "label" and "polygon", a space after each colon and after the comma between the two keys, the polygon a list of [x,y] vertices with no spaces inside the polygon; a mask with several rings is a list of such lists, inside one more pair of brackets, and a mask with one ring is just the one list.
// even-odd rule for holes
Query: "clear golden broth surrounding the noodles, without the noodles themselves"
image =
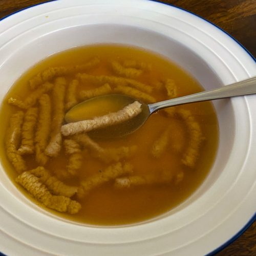
{"label": "clear golden broth surrounding the noodles, without the noodles themselves", "polygon": [[[18,108],[8,104],[8,99],[10,97],[25,99],[31,93],[28,81],[37,73],[49,67],[82,65],[94,56],[99,57],[100,63],[98,66],[86,71],[86,73],[95,76],[117,76],[110,65],[110,62],[113,60],[122,63],[127,59],[132,59],[151,64],[152,69],[150,71],[144,71],[134,79],[151,86],[153,91],[148,94],[155,97],[156,101],[168,98],[164,88],[164,81],[169,78],[173,79],[175,82],[178,92],[177,96],[202,91],[200,84],[174,63],[155,53],[128,46],[94,45],[80,47],[52,55],[42,60],[20,77],[13,85],[2,104],[0,113],[2,120],[0,133],[2,143],[0,154],[1,161],[15,185],[17,184],[15,178],[18,174],[7,158],[5,136],[8,130],[10,116],[17,112]],[[68,84],[75,78],[76,73],[77,72],[64,76]],[[54,79],[52,81],[54,81]],[[96,87],[98,87],[98,85],[95,86],[93,83],[80,82],[77,93]],[[54,106],[54,100],[51,100]],[[35,106],[37,105],[38,103],[35,104]],[[184,151],[186,151],[187,147],[191,144],[189,127],[187,127],[186,121],[177,114],[168,116],[166,112],[159,111],[153,114],[146,123],[133,134],[123,138],[94,139],[94,141],[98,143],[100,147],[106,149],[136,145],[137,151],[133,156],[120,160],[121,163],[127,162],[133,165],[134,169],[132,175],[143,176],[148,173],[168,170],[168,172],[174,175],[172,181],[163,184],[153,183],[131,185],[129,188],[117,188],[114,186],[115,180],[113,179],[91,189],[89,194],[81,199],[77,199],[76,195],[73,196],[72,199],[77,200],[82,206],[77,214],[63,214],[55,210],[47,209],[60,217],[72,221],[96,225],[118,225],[148,220],[179,205],[190,196],[205,179],[215,159],[218,146],[218,122],[211,102],[200,102],[176,107],[176,112],[179,112],[179,110],[188,110],[191,115],[193,115],[204,137],[202,143],[200,143],[199,156],[195,166],[189,167],[181,162]],[[164,152],[160,157],[155,157],[151,153],[152,146],[164,133],[166,127],[172,122],[175,123],[176,130],[172,130],[172,133],[168,135],[169,143],[165,147]],[[179,136],[181,135],[183,136],[179,142]],[[175,143],[183,143],[183,151],[179,152],[175,150],[172,146]],[[68,156],[63,148],[57,157],[50,158],[45,168],[64,183],[79,186],[80,180],[86,180],[88,177],[102,172],[102,170],[112,164],[112,162],[104,163],[98,158],[95,158],[88,149],[82,150],[81,155],[81,168],[79,168],[77,175],[68,179],[61,178],[61,175],[59,175],[59,172],[61,172],[61,170],[64,171],[68,164]],[[34,155],[24,156],[24,159],[27,163],[28,170],[39,165],[35,161]],[[178,180],[177,175],[181,173],[184,176],[182,180]],[[18,188],[32,199],[31,195],[29,195],[25,189],[21,186],[18,186]],[[34,202],[36,201],[34,199],[32,200]],[[37,201],[36,203],[46,208]]]}

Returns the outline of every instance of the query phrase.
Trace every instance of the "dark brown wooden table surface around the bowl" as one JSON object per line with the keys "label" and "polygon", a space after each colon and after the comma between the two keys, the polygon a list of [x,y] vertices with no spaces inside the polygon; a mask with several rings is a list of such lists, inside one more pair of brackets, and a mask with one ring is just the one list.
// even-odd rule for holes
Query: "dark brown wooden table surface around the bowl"
{"label": "dark brown wooden table surface around the bowl", "polygon": [[[0,0],[0,18],[44,2],[48,1]],[[256,57],[256,0],[161,0],[159,2],[184,8],[206,18],[236,38]],[[256,222],[217,255],[256,255]]]}

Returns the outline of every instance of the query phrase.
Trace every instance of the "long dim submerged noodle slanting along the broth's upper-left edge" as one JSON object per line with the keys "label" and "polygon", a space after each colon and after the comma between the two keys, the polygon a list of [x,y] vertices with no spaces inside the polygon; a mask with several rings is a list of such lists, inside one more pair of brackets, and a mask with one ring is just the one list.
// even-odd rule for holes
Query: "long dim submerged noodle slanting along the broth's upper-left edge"
{"label": "long dim submerged noodle slanting along the broth's upper-left edge", "polygon": [[92,69],[99,64],[100,60],[98,57],[92,58],[89,62],[83,65],[77,65],[75,67],[53,67],[48,68],[29,80],[31,89],[35,89],[40,84],[52,80],[56,76],[69,75],[74,72],[81,72]]}

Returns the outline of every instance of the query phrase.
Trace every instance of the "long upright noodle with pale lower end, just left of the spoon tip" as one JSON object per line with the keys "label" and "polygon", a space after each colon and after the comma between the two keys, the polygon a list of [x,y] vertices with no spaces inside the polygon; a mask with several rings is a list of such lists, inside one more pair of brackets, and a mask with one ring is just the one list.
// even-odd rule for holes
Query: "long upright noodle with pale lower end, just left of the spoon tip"
{"label": "long upright noodle with pale lower end, just left of the spoon tip", "polygon": [[51,121],[51,134],[50,142],[46,147],[45,154],[50,157],[56,157],[62,144],[62,136],[60,133],[60,127],[64,119],[64,99],[66,91],[66,79],[63,77],[56,78],[54,88],[52,91],[52,121]]}

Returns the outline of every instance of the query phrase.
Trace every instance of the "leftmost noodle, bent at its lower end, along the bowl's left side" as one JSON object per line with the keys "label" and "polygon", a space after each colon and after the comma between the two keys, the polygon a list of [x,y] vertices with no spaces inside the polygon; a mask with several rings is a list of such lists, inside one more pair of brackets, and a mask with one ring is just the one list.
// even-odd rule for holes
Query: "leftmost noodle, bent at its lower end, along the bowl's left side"
{"label": "leftmost noodle, bent at its lower end, along the bowl's left side", "polygon": [[27,169],[23,157],[17,152],[17,147],[20,142],[20,135],[22,133],[23,118],[23,111],[18,111],[11,116],[10,127],[8,129],[6,138],[6,154],[17,173],[22,173]]}

